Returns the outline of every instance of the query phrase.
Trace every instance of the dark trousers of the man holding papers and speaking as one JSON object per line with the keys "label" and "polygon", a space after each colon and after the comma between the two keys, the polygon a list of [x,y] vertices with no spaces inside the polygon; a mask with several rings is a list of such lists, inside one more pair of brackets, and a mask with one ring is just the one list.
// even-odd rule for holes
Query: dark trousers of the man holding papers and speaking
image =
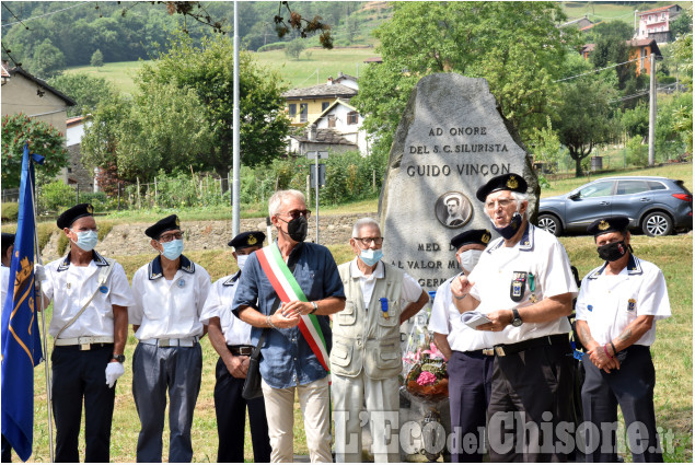
{"label": "dark trousers of the man holding papers and speaking", "polygon": [[552,346],[495,357],[490,462],[567,462],[575,446],[571,360],[569,339],[561,337]]}

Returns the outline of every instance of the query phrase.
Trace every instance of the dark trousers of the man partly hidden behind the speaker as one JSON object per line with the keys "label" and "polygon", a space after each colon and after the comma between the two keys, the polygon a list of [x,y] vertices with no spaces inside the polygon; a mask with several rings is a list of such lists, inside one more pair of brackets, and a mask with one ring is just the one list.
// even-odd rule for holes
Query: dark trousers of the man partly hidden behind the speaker
{"label": "dark trousers of the man partly hidden behind the speaker", "polygon": [[[453,351],[447,363],[451,431],[456,435],[451,461],[483,462],[485,415],[490,402],[495,358],[480,350]],[[475,441],[464,441],[471,437]]]}

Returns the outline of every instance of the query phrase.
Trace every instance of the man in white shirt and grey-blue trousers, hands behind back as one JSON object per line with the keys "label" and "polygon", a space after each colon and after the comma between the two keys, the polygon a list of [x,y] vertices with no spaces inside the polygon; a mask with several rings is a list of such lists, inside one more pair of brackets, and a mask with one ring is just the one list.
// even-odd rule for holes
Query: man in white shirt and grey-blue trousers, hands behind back
{"label": "man in white shirt and grey-blue trousers, hands behind back", "polygon": [[169,462],[190,462],[190,426],[200,392],[206,328],[200,312],[210,275],[184,255],[178,217],[169,216],[147,230],[159,252],[132,277],[135,305],[128,321],[139,340],[132,356],[132,396],[140,417],[138,462],[162,462],[162,431],[169,391]]}

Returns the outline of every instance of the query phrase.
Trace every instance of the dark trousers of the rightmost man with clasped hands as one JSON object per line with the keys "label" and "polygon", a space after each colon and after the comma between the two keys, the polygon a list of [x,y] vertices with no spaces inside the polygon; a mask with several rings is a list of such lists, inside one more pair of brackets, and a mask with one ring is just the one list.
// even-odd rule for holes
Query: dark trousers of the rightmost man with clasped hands
{"label": "dark trousers of the rightmost man with clasped hands", "polygon": [[[621,360],[622,359],[622,360]],[[581,390],[587,431],[587,462],[617,462],[617,406],[621,406],[633,462],[663,462],[655,417],[655,365],[649,347],[630,346],[618,353],[619,370],[606,373],[584,357],[587,377]]]}

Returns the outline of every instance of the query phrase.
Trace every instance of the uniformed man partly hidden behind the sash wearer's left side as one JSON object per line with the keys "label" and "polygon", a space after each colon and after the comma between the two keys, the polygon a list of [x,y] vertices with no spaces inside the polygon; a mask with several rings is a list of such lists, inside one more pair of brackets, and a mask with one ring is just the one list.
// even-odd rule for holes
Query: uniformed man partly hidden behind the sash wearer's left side
{"label": "uniformed man partly hidden behind the sash wearer's left side", "polygon": [[260,247],[266,235],[260,231],[238,234],[229,242],[234,247],[234,259],[239,271],[219,279],[210,288],[208,300],[202,307],[200,323],[207,325],[210,344],[220,354],[215,370],[215,414],[219,446],[218,463],[244,462],[244,428],[246,407],[251,426],[251,441],[254,462],[270,462],[270,439],[268,420],[263,397],[246,400],[242,397],[248,357],[254,347],[251,345],[251,325],[232,314],[231,304],[244,271],[246,258]]}

